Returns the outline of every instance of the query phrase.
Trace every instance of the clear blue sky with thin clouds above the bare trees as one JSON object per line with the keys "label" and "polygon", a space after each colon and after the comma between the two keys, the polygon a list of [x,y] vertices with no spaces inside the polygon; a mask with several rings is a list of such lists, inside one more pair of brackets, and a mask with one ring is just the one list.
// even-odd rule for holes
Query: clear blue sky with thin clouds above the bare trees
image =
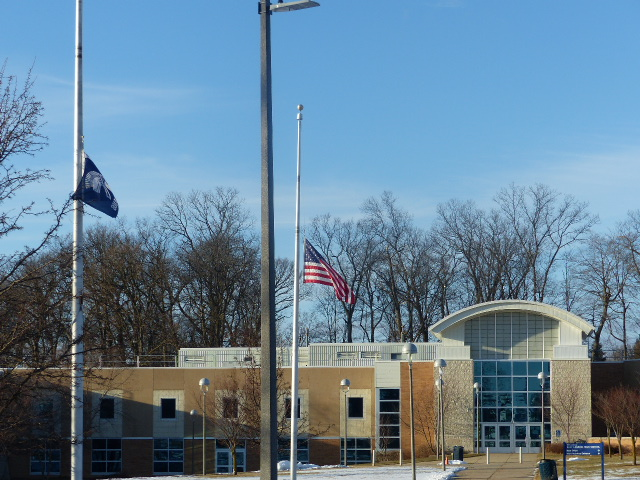
{"label": "clear blue sky with thin clouds above the bare trees", "polygon": [[[385,190],[428,227],[439,203],[489,207],[512,182],[589,202],[603,229],[640,207],[636,0],[319,1],[272,16],[278,256],[293,257],[299,103],[303,227],[357,217]],[[29,161],[56,178],[23,199],[61,200],[75,1],[5,0],[2,12],[6,73],[33,64],[46,109],[50,145]],[[128,220],[169,192],[225,186],[259,222],[259,27],[257,0],[85,0],[85,147]]]}

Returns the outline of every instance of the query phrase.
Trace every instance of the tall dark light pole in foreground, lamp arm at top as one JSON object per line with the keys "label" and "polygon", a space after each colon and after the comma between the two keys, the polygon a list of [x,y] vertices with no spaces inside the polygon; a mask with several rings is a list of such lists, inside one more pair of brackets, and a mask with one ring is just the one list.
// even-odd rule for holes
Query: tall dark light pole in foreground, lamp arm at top
{"label": "tall dark light pole in foreground, lamp arm at top", "polygon": [[276,392],[276,301],[273,222],[273,128],[271,124],[271,12],[317,7],[312,0],[271,5],[260,0],[260,119],[261,119],[261,291],[260,291],[260,478],[278,478]]}

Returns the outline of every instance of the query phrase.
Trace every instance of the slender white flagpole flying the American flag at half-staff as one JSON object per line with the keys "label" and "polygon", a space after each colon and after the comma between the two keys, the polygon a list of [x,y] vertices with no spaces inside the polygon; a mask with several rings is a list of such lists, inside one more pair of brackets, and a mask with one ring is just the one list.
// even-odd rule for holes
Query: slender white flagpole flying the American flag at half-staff
{"label": "slender white flagpole flying the American flag at half-staff", "polygon": [[291,345],[291,480],[298,470],[298,303],[300,300],[300,153],[302,105],[298,105],[298,167],[296,180],[296,245],[293,258],[293,341]]}

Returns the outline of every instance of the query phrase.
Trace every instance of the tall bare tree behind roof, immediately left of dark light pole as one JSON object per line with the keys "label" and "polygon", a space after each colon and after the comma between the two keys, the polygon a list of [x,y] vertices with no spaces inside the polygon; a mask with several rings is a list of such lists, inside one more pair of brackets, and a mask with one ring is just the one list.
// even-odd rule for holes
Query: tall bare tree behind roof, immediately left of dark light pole
{"label": "tall bare tree behind roof, immediately left of dark light pole", "polygon": [[[196,344],[256,344],[259,249],[238,192],[218,188],[188,196],[171,194],[157,214],[174,244],[178,306],[195,332]],[[254,308],[246,308],[247,302]]]}

